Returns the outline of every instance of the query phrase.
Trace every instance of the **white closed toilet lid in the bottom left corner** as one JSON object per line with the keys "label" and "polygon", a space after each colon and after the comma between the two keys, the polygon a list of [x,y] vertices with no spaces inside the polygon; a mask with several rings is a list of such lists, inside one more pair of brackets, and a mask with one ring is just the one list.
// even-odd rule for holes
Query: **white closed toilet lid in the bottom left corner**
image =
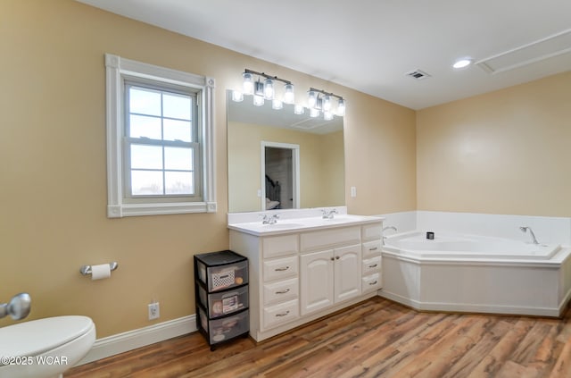
{"label": "white closed toilet lid in the bottom left corner", "polygon": [[0,328],[0,356],[36,356],[95,327],[87,316],[55,316]]}

